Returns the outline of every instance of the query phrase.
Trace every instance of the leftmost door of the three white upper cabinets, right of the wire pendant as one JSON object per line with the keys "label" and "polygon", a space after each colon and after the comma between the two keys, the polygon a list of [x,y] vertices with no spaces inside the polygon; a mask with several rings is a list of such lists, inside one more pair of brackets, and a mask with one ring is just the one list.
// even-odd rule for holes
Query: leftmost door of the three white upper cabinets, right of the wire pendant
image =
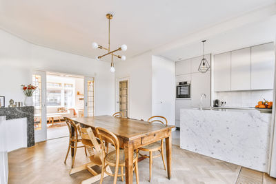
{"label": "leftmost door of the three white upper cabinets, right of the wire pendant", "polygon": [[231,90],[231,53],[214,55],[214,90]]}

